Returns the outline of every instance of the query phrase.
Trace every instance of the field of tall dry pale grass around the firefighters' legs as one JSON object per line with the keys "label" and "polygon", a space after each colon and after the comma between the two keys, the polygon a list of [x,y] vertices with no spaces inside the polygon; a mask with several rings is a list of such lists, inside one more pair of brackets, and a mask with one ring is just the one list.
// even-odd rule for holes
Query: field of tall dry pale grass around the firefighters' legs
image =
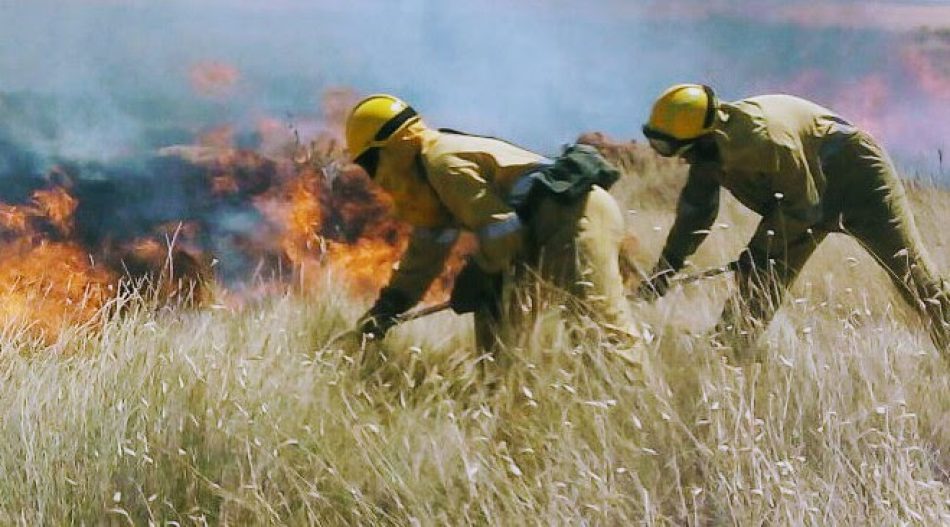
{"label": "field of tall dry pale grass around the firefighters' legs", "polygon": [[[683,169],[624,166],[647,267]],[[950,195],[911,193],[950,272]],[[698,269],[755,217],[727,201],[718,222]],[[130,298],[53,342],[3,327],[0,523],[950,524],[950,366],[847,239],[809,263],[761,363],[704,335],[726,278],[636,303],[655,334],[643,384],[552,317],[506,368],[440,314],[369,346],[388,361],[368,371],[331,342],[367,303],[336,283],[240,309]]]}

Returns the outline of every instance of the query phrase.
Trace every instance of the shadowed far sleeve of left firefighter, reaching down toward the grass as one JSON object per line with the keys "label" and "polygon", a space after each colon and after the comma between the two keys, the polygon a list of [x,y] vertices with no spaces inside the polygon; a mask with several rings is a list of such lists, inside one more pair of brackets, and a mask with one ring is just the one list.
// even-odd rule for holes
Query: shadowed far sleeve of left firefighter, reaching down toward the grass
{"label": "shadowed far sleeve of left firefighter, reaching down toward the grass", "polygon": [[405,294],[413,305],[418,303],[442,272],[458,234],[457,229],[413,229],[409,246],[393,270],[389,287]]}

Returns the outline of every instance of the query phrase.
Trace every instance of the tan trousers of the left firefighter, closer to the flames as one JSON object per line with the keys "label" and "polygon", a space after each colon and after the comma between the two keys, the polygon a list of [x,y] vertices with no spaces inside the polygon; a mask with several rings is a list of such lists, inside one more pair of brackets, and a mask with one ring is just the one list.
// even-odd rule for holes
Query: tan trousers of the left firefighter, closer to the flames
{"label": "tan trousers of the left firefighter, closer to the flames", "polygon": [[476,312],[476,344],[510,345],[547,307],[567,306],[579,325],[609,333],[614,351],[642,364],[643,342],[620,275],[624,219],[616,200],[600,187],[576,203],[538,203],[528,221],[527,251],[507,280],[499,315]]}

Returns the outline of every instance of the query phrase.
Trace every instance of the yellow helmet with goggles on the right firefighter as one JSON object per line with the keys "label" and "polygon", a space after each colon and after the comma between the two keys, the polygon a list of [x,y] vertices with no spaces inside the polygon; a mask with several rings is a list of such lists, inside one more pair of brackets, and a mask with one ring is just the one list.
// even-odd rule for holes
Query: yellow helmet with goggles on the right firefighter
{"label": "yellow helmet with goggles on the right firefighter", "polygon": [[643,135],[651,142],[689,142],[712,130],[718,104],[716,95],[709,86],[672,86],[653,103],[650,120],[643,125]]}

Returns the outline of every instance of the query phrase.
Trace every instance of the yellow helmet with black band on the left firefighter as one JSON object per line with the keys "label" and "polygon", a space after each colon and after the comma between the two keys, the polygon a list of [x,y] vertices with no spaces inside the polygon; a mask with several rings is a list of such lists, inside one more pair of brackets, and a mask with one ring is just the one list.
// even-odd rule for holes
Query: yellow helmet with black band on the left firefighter
{"label": "yellow helmet with black band on the left firefighter", "polygon": [[381,147],[403,126],[418,120],[411,106],[386,94],[370,95],[358,102],[346,118],[346,148],[356,161],[372,148]]}

